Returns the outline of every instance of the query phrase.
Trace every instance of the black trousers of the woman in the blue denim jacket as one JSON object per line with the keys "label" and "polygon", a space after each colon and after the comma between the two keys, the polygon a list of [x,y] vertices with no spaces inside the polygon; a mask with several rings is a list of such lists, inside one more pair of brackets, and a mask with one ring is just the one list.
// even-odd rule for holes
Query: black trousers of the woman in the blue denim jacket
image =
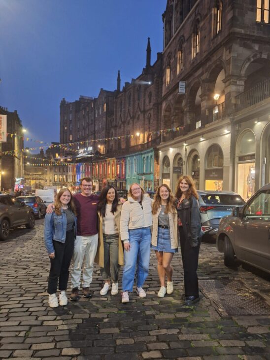
{"label": "black trousers of the woman in the blue denim jacket", "polygon": [[53,240],[55,251],[54,259],[51,259],[51,269],[48,279],[48,293],[54,294],[57,291],[59,280],[59,290],[66,290],[68,286],[69,265],[74,251],[73,230],[67,231],[65,243]]}

